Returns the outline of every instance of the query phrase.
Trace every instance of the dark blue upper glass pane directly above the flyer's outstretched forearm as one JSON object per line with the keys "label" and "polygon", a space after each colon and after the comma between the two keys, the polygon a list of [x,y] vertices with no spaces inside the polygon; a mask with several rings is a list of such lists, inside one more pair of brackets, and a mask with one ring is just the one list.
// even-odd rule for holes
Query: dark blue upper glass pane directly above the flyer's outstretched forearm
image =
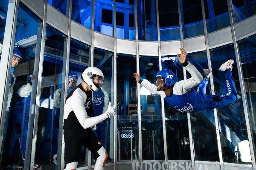
{"label": "dark blue upper glass pane directly above the flyer's outstretched forearm", "polygon": [[137,0],[139,40],[157,41],[155,0]]}

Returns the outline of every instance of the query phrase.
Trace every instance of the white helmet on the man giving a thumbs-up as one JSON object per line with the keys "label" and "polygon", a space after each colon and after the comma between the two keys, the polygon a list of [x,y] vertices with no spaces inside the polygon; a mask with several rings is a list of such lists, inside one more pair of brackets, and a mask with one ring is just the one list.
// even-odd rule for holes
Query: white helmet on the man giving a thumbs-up
{"label": "white helmet on the man giving a thumbs-up", "polygon": [[[99,76],[100,80],[101,80],[101,84],[96,85],[93,82],[93,78]],[[88,67],[84,70],[83,74],[82,74],[82,79],[84,80],[84,82],[86,82],[87,85],[90,86],[90,88],[92,89],[92,91],[98,91],[103,84],[103,79],[104,79],[104,75],[102,73],[102,71],[99,68],[96,67]]]}

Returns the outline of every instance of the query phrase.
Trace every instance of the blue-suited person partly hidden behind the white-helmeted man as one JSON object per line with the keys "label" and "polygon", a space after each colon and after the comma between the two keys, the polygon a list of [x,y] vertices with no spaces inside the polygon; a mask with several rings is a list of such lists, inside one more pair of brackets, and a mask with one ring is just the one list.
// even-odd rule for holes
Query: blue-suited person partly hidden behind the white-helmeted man
{"label": "blue-suited person partly hidden behind the white-helmeted man", "polygon": [[[99,116],[102,113],[105,113],[108,109],[108,93],[102,88],[98,91],[93,91],[93,110],[94,116]],[[101,140],[104,148],[105,146],[105,120],[96,125],[96,135]],[[94,131],[94,132],[95,132]]]}

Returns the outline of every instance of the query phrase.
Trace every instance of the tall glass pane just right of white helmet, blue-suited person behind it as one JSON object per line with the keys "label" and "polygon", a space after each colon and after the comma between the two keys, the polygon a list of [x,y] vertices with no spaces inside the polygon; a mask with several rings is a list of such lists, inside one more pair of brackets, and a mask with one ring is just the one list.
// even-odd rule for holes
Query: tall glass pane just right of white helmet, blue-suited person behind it
{"label": "tall glass pane just right of white helmet, blue-suited person behind it", "polygon": [[[93,65],[99,68],[104,74],[104,83],[102,89],[93,92],[93,109],[94,116],[105,113],[108,107],[108,102],[111,102],[111,88],[112,88],[112,59],[113,54],[110,51],[105,51],[99,48],[94,48]],[[106,163],[113,162],[114,149],[113,149],[113,118],[105,119],[102,123],[96,125],[97,129],[94,131],[102,142],[105,150],[108,153]],[[92,164],[95,164],[95,159],[92,157]]]}

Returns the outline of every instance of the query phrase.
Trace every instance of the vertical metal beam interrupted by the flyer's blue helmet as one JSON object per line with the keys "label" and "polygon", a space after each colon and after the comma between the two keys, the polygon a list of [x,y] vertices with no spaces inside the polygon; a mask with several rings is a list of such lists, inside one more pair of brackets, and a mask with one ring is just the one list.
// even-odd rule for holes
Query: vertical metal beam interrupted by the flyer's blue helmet
{"label": "vertical metal beam interrupted by the flyer's blue helmet", "polygon": [[[159,8],[158,0],[156,0],[156,12],[157,12],[157,41],[158,41],[158,62],[159,70],[162,70],[162,55],[161,55],[161,41],[160,41],[160,22],[159,22]],[[167,154],[167,141],[166,141],[166,122],[165,122],[165,108],[164,108],[164,99],[161,97],[161,107],[162,107],[162,121],[163,121],[163,147],[164,147],[164,160],[167,162],[168,168],[168,154]]]}

